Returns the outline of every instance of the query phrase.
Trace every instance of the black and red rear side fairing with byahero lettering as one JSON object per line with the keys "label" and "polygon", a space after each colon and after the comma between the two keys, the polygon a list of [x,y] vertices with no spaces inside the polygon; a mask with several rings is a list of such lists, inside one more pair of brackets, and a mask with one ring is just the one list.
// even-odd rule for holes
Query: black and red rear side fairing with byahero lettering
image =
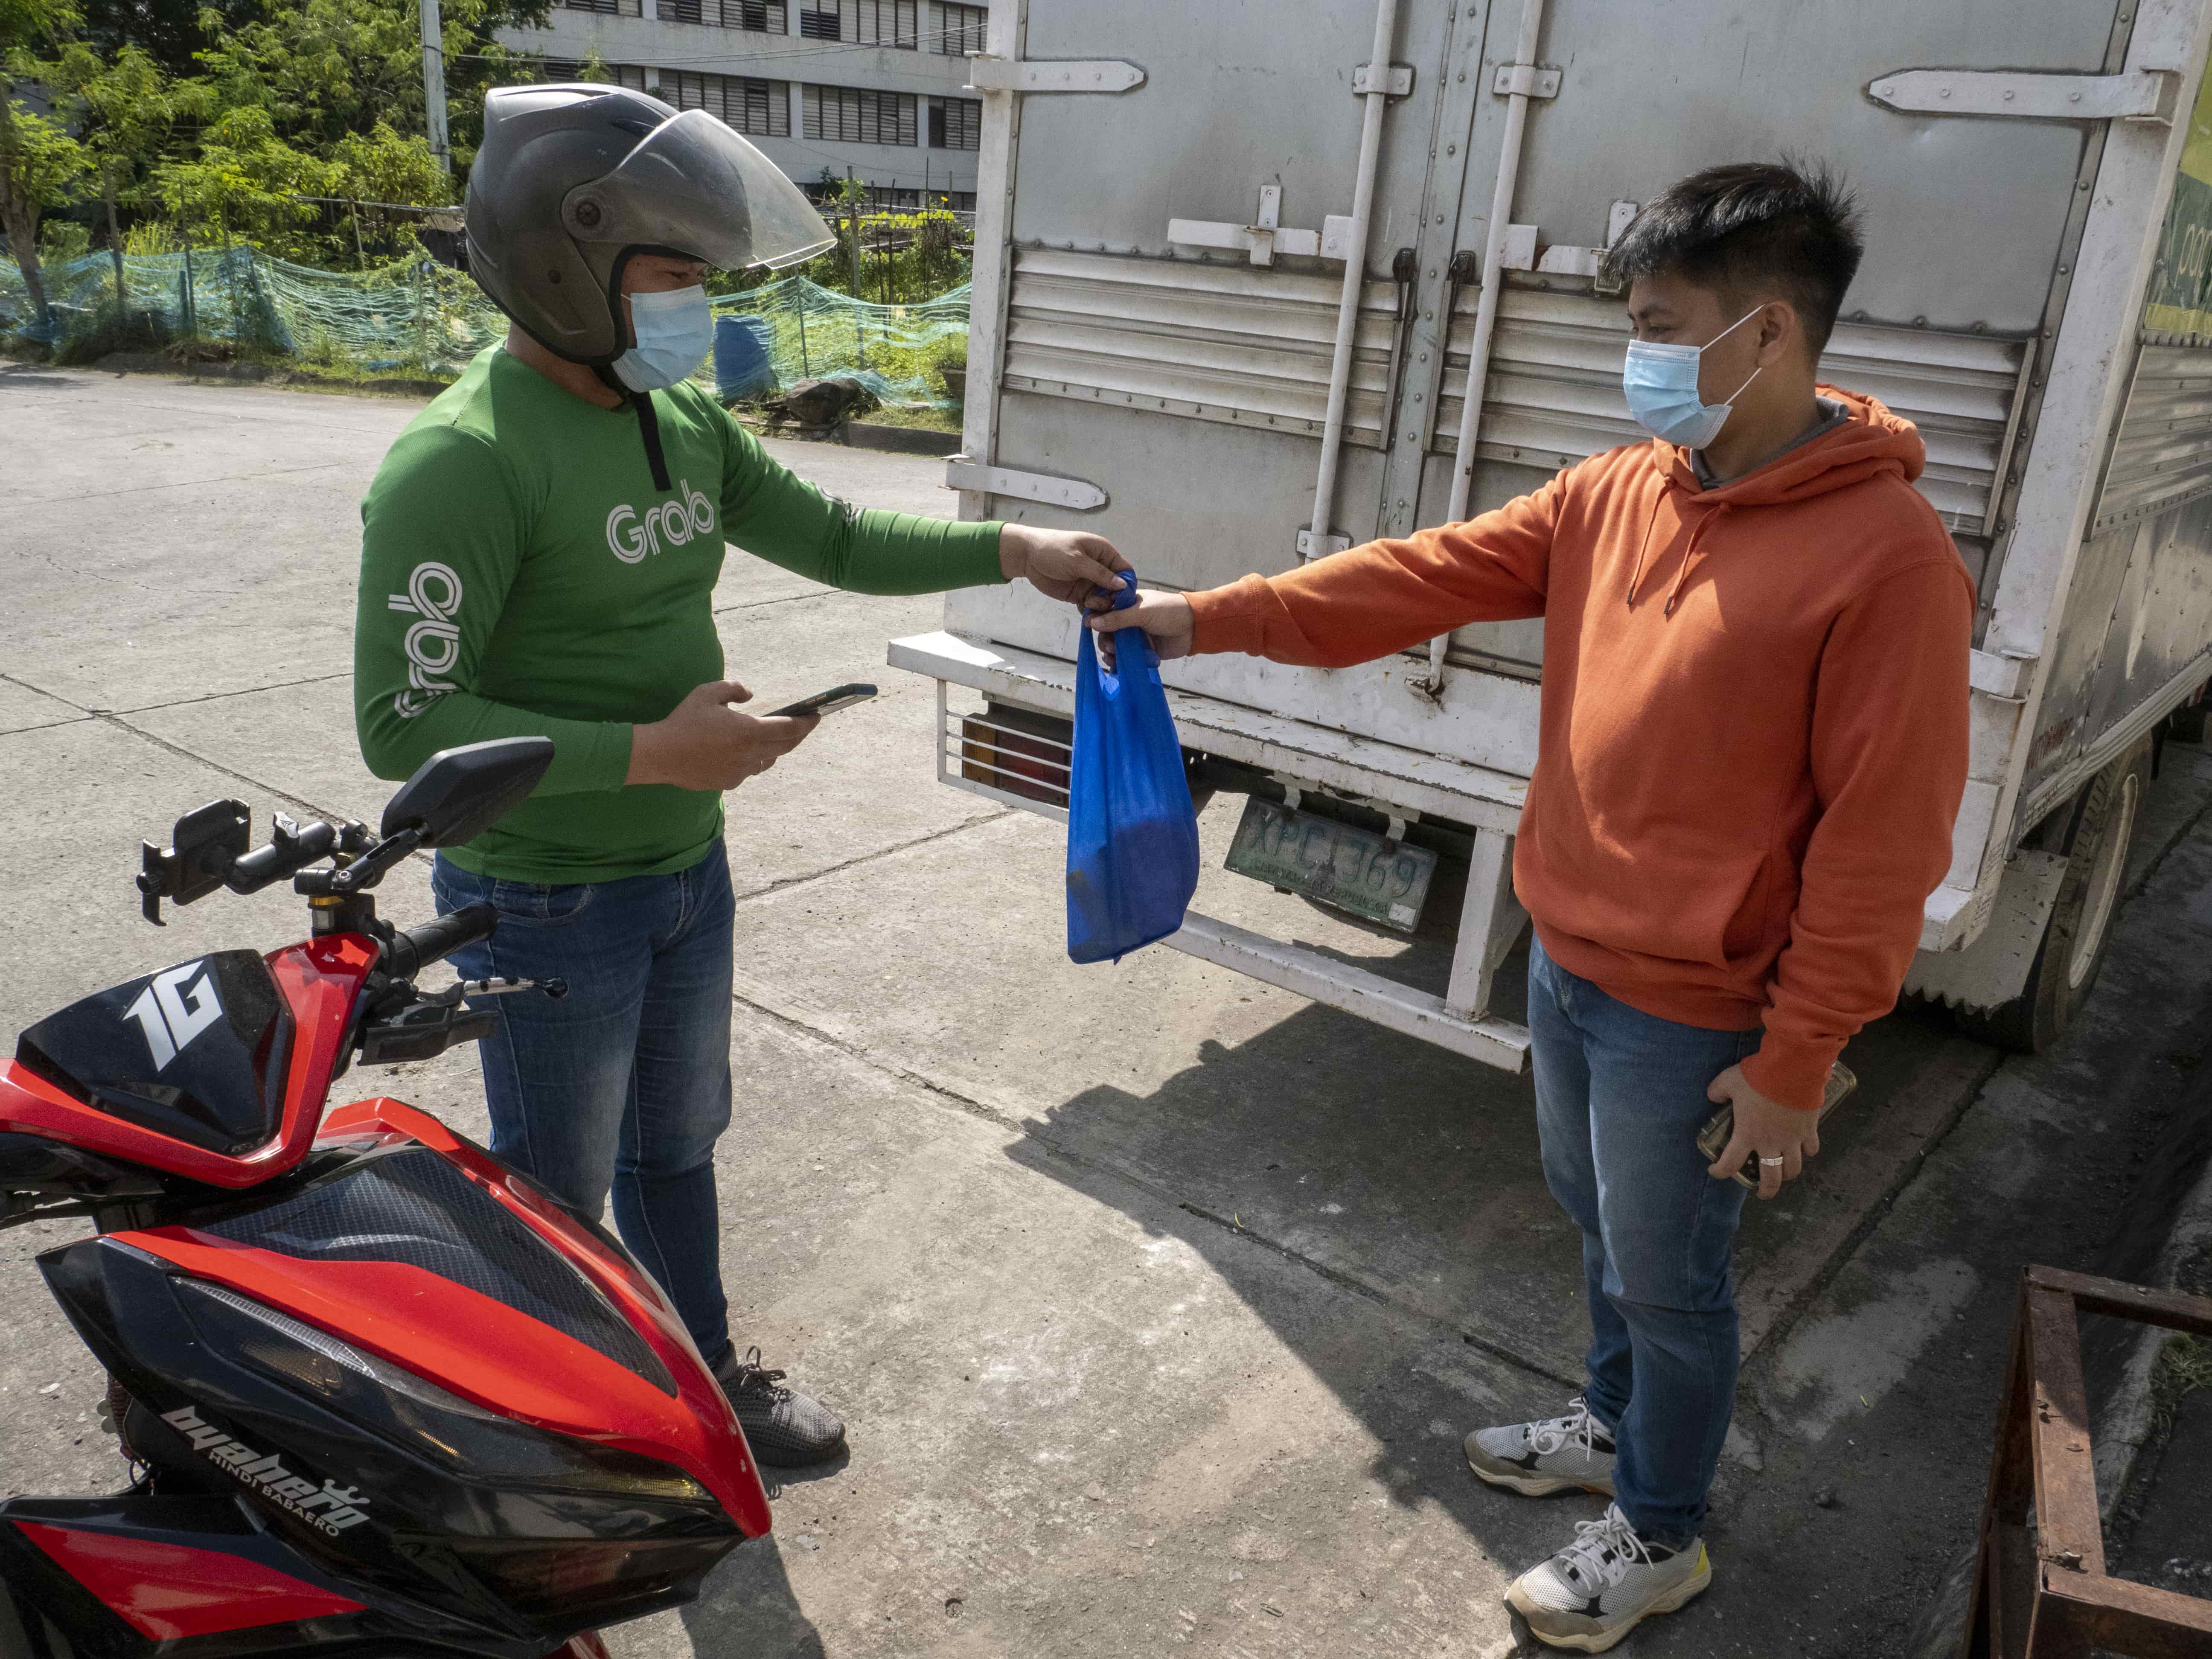
{"label": "black and red rear side fairing with byahero lettering", "polygon": [[[409,1108],[378,1106],[392,1119],[420,1119]],[[442,1323],[434,1294],[411,1298],[392,1354],[378,1354],[354,1327],[352,1307],[341,1307],[345,1323],[325,1325],[296,1296],[301,1285],[376,1263],[237,1245],[201,1248],[221,1256],[217,1270],[259,1254],[270,1272],[197,1272],[177,1261],[199,1261],[190,1248],[195,1237],[215,1239],[208,1225],[296,1217],[301,1199],[319,1188],[363,1172],[420,1172],[425,1159],[453,1168],[411,1135],[347,1130],[325,1139],[270,1197],[195,1208],[177,1228],[115,1232],[40,1256],[58,1303],[135,1400],[124,1427],[135,1455],[155,1471],[155,1489],[228,1493],[268,1533],[341,1584],[361,1586],[356,1599],[374,1590],[387,1606],[411,1610],[442,1644],[476,1655],[540,1659],[586,1628],[695,1599],[730,1548],[765,1531],[765,1493],[750,1458],[741,1469],[752,1502],[741,1491],[730,1504],[686,1469],[681,1447],[648,1453],[633,1436],[626,1449],[604,1422],[608,1391],[688,1413],[681,1387],[670,1398],[551,1325],[425,1272],[427,1290],[445,1285],[467,1298],[476,1332],[467,1358],[489,1396],[469,1400],[447,1389],[458,1378],[440,1376],[405,1340],[416,1323]],[[478,1201],[495,1203],[480,1190]],[[181,1243],[161,1234],[179,1234]],[[560,1272],[575,1274],[580,1292],[597,1294],[571,1256],[553,1254],[535,1230],[529,1241]],[[487,1307],[531,1336],[487,1329]],[[619,1316],[635,1332],[626,1305]],[[644,1347],[648,1334],[637,1332],[637,1340]],[[661,1354],[657,1365],[672,1378],[695,1380],[695,1371],[712,1387],[697,1356],[677,1349],[666,1332]],[[562,1427],[502,1402],[502,1394],[518,1391],[518,1378],[542,1385],[538,1374],[571,1369],[580,1356],[597,1365],[588,1389],[575,1389],[599,1396],[597,1418]],[[577,1416],[577,1405],[568,1400],[564,1411]],[[719,1391],[714,1405],[728,1413]],[[701,1433],[695,1418],[684,1427]],[[728,1431],[743,1453],[734,1420]]]}

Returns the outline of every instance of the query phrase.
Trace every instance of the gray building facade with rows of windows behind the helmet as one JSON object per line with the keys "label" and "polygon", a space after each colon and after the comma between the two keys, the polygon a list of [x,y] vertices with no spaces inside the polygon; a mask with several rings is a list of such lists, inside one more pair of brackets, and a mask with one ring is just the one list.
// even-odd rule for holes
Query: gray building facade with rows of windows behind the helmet
{"label": "gray building facade with rows of windows behind the helmet", "polygon": [[553,77],[591,60],[677,108],[706,108],[818,195],[847,173],[880,206],[975,206],[982,102],[967,55],[989,7],[953,0],[560,0],[507,29]]}

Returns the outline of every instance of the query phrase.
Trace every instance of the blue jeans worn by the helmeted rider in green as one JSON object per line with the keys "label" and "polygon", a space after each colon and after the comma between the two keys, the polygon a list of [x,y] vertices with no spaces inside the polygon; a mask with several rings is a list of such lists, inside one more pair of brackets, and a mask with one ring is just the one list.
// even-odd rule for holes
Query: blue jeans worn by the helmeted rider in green
{"label": "blue jeans worn by the helmeted rider in green", "polygon": [[540,887],[438,856],[438,911],[487,902],[500,931],[451,958],[482,978],[562,978],[568,995],[489,998],[491,1152],[615,1225],[712,1363],[730,1345],[714,1141],[730,1126],[730,936],[721,843],[672,876]]}

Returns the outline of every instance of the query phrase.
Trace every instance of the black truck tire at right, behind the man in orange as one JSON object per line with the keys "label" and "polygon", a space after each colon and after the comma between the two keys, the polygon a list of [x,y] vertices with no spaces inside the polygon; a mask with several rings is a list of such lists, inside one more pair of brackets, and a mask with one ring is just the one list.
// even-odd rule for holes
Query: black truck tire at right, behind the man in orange
{"label": "black truck tire at right, behind the man in orange", "polygon": [[2044,925],[2044,942],[2017,998],[1982,1013],[1958,1011],[1958,1026],[1969,1037],[2039,1055],[2073,1024],[2104,967],[2146,787],[2150,739],[2112,761],[2053,814],[2062,823],[2044,845],[2066,856],[2066,876]]}

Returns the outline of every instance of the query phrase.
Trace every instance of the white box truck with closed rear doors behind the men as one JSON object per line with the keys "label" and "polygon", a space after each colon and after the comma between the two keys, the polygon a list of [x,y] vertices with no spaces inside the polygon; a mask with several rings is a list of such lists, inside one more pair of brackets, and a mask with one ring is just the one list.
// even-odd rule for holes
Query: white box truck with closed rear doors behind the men
{"label": "white box truck with closed rear doors behind the men", "polygon": [[[2208,27],[2208,0],[993,0],[947,482],[1177,588],[1469,518],[1641,438],[1599,288],[1641,199],[1836,164],[1869,248],[1823,378],[1918,422],[1980,584],[1909,989],[2042,1046],[2212,675]],[[938,681],[945,783],[1064,816],[1075,628],[1011,586],[891,644]],[[1201,914],[1170,942],[1517,1068],[1491,987],[1542,672],[1533,622],[1345,670],[1168,664],[1194,792],[1245,796],[1232,869],[1385,931],[1464,869],[1433,989]]]}

